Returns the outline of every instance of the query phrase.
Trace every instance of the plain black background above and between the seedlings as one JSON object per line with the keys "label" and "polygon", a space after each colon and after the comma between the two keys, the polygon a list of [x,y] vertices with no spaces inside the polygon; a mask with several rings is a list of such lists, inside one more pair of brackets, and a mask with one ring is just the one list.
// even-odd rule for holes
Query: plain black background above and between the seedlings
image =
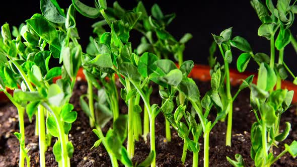
{"label": "plain black background above and between the seedlings", "polygon": [[[94,0],[81,1],[90,6],[94,4]],[[64,9],[71,4],[70,0],[57,0],[57,2]],[[112,6],[113,2],[107,0],[108,6]],[[128,10],[137,5],[136,0],[120,0],[118,2]],[[257,35],[261,22],[251,7],[249,0],[143,0],[142,2],[147,11],[150,11],[153,4],[158,3],[164,14],[176,13],[177,17],[167,30],[177,39],[180,39],[185,33],[193,35],[193,39],[186,45],[185,60],[191,59],[197,64],[208,64],[209,46],[213,40],[211,33],[218,35],[222,30],[229,27],[233,27],[233,37],[240,35],[249,41],[254,53],[264,52],[270,54],[269,41]],[[35,13],[41,13],[38,0],[5,1],[0,8],[0,24],[7,22],[10,25],[18,26]],[[99,21],[99,19],[89,19],[78,12],[76,16],[77,28],[81,37],[80,43],[85,49],[89,42],[89,36],[94,35],[92,34],[91,25]],[[297,34],[296,22],[291,27],[294,37]],[[132,47],[136,47],[140,41],[140,34],[132,31],[130,40],[133,44]],[[236,48],[233,49],[233,62],[231,65],[233,68],[236,68],[236,60],[240,53]],[[218,60],[222,62],[218,52],[216,55],[219,58]],[[296,53],[290,44],[285,48],[284,59],[293,73],[297,73],[297,66],[295,65]],[[247,70],[256,71],[257,68],[258,65],[251,61]]]}

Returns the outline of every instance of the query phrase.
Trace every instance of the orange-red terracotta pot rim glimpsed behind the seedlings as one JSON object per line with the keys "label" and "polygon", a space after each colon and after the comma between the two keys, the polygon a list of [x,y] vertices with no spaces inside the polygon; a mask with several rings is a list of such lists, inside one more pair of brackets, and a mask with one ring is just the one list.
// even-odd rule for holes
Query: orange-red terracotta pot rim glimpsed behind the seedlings
{"label": "orange-red terracotta pot rim glimpsed behind the seedlings", "polygon": [[[209,81],[211,79],[211,76],[209,74],[210,67],[208,65],[203,64],[195,64],[194,68],[189,74],[189,77],[192,77],[194,79],[199,79],[201,81]],[[257,74],[253,72],[238,72],[236,69],[230,69],[230,81],[232,86],[237,86],[242,83],[242,80],[247,78],[248,76],[254,74],[254,80],[253,82],[256,83],[257,81]],[[59,79],[59,77],[55,77],[53,81]],[[85,80],[85,75],[83,73],[83,69],[81,68],[78,72],[77,80]],[[297,92],[297,86],[295,86],[291,81],[283,80],[281,84],[282,89],[287,89],[289,91],[293,90],[294,92]],[[9,93],[13,93],[12,90],[8,89]],[[3,92],[0,92],[0,103],[7,102],[8,98]],[[293,97],[293,103],[297,103],[297,94],[294,94]]]}

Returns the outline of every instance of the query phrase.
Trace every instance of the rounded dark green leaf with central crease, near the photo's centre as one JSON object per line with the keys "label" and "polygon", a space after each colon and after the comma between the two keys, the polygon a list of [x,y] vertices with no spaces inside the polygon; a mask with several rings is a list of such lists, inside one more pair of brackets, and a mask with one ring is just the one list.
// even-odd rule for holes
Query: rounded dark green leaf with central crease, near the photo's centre
{"label": "rounded dark green leaf with central crease, near the photo's centre", "polygon": [[155,61],[157,60],[158,57],[155,54],[148,52],[143,53],[139,58],[137,66],[139,73],[143,77],[149,76],[157,69],[157,65],[155,64]]}

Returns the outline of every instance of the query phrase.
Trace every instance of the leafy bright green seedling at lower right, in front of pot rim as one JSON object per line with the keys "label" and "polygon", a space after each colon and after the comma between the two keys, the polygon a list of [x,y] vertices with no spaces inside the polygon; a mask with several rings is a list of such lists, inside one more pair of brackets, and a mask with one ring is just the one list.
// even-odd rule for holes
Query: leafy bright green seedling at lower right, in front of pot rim
{"label": "leafy bright green seedling at lower right, in front of pot rim", "polygon": [[[291,125],[289,122],[285,122],[286,128],[282,133],[276,133],[275,128],[278,128],[280,122],[276,122],[291,104],[293,98],[293,91],[286,89],[278,89],[272,91],[270,94],[268,91],[273,88],[276,82],[272,83],[269,76],[274,71],[269,71],[270,66],[261,63],[259,68],[257,85],[252,84],[251,89],[251,106],[257,118],[251,129],[251,157],[255,161],[255,166],[270,166],[277,161],[286,152],[289,152],[293,157],[296,157],[297,142],[293,141],[290,145],[285,144],[285,149],[274,157],[274,154],[269,151],[273,145],[286,139],[289,135]],[[275,75],[275,74],[274,74]],[[260,117],[259,117],[260,116]],[[237,155],[237,161],[229,161],[234,166],[241,166],[240,156]]]}

